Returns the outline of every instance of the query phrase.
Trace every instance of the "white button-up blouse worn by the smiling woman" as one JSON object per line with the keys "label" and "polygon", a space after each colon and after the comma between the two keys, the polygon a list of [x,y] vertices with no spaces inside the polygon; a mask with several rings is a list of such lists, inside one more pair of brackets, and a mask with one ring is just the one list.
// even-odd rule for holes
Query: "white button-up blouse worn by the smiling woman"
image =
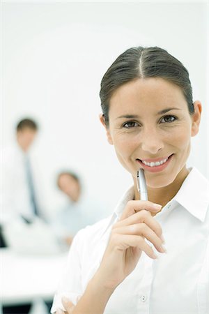
{"label": "white button-up blouse worn by the smiling woman", "polygon": [[[130,188],[112,216],[77,233],[52,313],[63,309],[63,296],[77,304],[84,294],[100,265],[112,225],[133,197]],[[155,216],[167,253],[157,253],[157,260],[142,253],[137,267],[111,295],[104,313],[209,313],[208,204],[208,180],[193,168],[175,197]]]}

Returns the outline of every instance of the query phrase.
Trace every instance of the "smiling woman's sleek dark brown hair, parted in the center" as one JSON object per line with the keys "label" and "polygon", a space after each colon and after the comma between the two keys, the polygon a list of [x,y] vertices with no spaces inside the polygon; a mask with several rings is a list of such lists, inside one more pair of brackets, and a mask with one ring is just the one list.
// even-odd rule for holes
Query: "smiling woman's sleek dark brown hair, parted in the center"
{"label": "smiling woman's sleek dark brown hair, parted in the center", "polygon": [[100,99],[105,123],[109,124],[109,100],[114,91],[137,78],[161,77],[183,91],[189,113],[194,113],[192,86],[183,63],[160,47],[132,47],[121,54],[102,77]]}

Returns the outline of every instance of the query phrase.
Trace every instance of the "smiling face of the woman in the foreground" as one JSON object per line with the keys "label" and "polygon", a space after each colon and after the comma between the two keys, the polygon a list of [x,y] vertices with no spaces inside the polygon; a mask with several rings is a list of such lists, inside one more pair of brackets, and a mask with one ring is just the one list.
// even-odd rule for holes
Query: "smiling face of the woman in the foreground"
{"label": "smiling face of the woman in the foreground", "polygon": [[148,186],[171,184],[185,170],[190,137],[199,129],[201,103],[189,114],[179,87],[161,78],[137,79],[111,96],[107,137],[133,177],[144,168]]}

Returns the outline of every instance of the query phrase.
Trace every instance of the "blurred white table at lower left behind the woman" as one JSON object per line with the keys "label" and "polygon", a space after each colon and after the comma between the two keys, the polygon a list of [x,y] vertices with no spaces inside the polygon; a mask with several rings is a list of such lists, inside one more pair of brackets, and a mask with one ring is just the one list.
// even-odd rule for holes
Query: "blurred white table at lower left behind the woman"
{"label": "blurred white table at lower left behind the woman", "polygon": [[1,248],[1,303],[24,304],[54,297],[68,253],[24,255]]}

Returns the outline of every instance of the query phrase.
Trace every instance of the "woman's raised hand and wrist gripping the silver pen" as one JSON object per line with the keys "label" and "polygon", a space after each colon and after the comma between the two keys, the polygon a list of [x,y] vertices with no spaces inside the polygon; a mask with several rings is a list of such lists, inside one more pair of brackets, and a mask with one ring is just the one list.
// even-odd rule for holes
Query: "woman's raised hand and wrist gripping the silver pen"
{"label": "woman's raised hand and wrist gripping the silver pen", "polygon": [[107,289],[115,289],[136,267],[142,251],[150,258],[157,258],[150,241],[160,253],[162,229],[151,213],[160,211],[161,205],[148,201],[130,201],[121,219],[111,230],[109,243],[102,258],[95,280]]}

